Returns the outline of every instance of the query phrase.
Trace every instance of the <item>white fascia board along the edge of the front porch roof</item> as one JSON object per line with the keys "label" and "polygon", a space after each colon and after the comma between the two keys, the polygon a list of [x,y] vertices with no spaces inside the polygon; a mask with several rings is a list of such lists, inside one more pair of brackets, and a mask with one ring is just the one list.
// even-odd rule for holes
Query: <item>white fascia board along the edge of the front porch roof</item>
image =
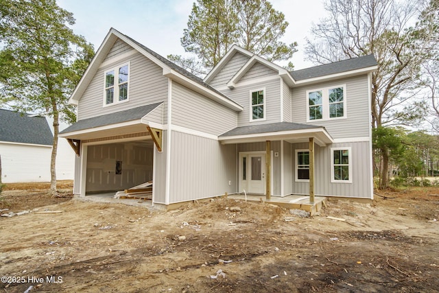
{"label": "white fascia board along the edge of the front porch roof", "polygon": [[313,137],[316,143],[320,146],[325,146],[328,143],[333,143],[333,138],[324,128],[300,129],[300,130],[285,130],[276,132],[264,132],[257,134],[243,134],[234,135],[230,137],[219,137],[218,140],[223,144],[230,143],[250,143],[257,141],[279,141],[282,139],[294,139],[302,137]]}

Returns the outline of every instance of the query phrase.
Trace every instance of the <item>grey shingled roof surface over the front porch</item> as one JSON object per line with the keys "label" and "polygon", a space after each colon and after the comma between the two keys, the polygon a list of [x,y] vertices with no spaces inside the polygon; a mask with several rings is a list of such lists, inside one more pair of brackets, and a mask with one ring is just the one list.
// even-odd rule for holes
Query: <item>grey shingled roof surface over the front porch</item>
{"label": "grey shingled roof surface over the front porch", "polygon": [[311,129],[311,128],[321,128],[322,126],[313,126],[308,124],[298,124],[293,122],[277,122],[270,124],[257,124],[250,126],[240,126],[233,128],[228,132],[219,135],[221,137],[233,137],[235,135],[246,135],[246,134],[259,134],[268,132],[280,132],[289,130],[301,130],[301,129]]}

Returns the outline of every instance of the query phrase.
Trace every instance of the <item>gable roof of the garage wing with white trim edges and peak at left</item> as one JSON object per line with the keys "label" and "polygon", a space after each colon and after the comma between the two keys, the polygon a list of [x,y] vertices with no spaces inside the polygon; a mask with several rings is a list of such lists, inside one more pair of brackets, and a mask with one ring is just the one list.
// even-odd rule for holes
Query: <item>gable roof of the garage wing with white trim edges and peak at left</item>
{"label": "gable roof of the garage wing with white trim edges and peak at left", "polygon": [[127,43],[128,45],[139,51],[139,53],[143,54],[143,56],[145,56],[146,58],[152,60],[152,62],[156,63],[156,65],[162,67],[163,75],[171,78],[172,80],[176,80],[184,84],[185,86],[188,86],[193,91],[202,93],[206,97],[215,100],[219,104],[223,104],[224,106],[233,108],[233,110],[237,110],[237,111],[244,110],[244,108],[241,105],[237,104],[237,102],[233,101],[233,99],[230,99],[223,93],[217,91],[212,86],[204,82],[201,78],[198,78],[192,73],[189,73],[189,71],[186,71],[185,69],[182,69],[178,65],[175,65],[173,62],[167,60],[163,56],[156,54],[156,52],[145,47],[141,43],[130,38],[129,36],[126,36],[125,34],[121,34],[121,32],[115,30],[114,28],[110,29],[110,31],[104,38],[102,45],[100,45],[99,49],[97,49],[97,52],[93,57],[93,60],[91,60],[90,65],[88,65],[86,71],[84,72],[84,75],[82,75],[80,82],[78,83],[78,85],[75,87],[75,90],[71,94],[69,103],[78,104],[80,97],[82,96],[86,87],[91,82],[91,79],[97,72],[99,65],[106,58],[108,51],[110,51],[112,45],[114,45],[115,41],[118,38],[120,38],[125,43]]}

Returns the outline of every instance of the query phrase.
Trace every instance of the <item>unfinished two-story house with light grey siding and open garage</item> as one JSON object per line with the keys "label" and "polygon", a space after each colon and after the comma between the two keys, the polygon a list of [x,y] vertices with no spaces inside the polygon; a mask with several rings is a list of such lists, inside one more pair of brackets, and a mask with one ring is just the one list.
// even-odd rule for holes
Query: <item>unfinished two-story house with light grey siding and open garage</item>
{"label": "unfinished two-story house with light grey siding and open garage", "polygon": [[[372,198],[373,56],[289,72],[234,46],[201,80],[111,29],[60,137],[74,193],[153,181],[153,204],[228,194]],[[310,172],[311,170],[311,172]]]}

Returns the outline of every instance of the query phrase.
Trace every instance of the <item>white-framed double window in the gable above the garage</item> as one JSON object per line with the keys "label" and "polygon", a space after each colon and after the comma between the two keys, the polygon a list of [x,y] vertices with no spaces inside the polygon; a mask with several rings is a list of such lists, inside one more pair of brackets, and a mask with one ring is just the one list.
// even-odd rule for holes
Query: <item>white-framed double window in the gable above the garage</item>
{"label": "white-framed double window in the gable above the garage", "polygon": [[129,72],[129,64],[105,71],[104,105],[128,100]]}

